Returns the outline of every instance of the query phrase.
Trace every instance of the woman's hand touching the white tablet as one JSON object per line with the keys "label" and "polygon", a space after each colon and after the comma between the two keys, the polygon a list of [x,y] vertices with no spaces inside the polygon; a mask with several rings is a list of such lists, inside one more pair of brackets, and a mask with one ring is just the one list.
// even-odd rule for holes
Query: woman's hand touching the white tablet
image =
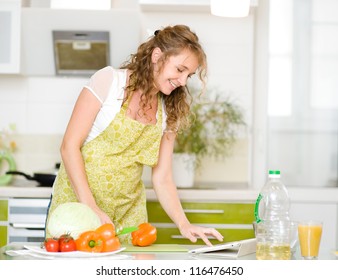
{"label": "woman's hand touching the white tablet", "polygon": [[193,243],[195,243],[197,238],[200,237],[205,244],[212,246],[208,239],[210,236],[215,237],[218,241],[223,241],[223,236],[214,228],[201,227],[188,223],[180,227],[180,232]]}

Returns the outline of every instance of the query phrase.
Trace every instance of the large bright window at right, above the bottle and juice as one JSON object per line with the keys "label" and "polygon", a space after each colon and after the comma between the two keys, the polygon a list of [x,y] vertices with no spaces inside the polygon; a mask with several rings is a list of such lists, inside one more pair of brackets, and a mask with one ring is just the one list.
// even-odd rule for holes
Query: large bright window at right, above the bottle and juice
{"label": "large bright window at right, above the bottle and juice", "polygon": [[267,166],[287,186],[336,187],[338,1],[270,5]]}

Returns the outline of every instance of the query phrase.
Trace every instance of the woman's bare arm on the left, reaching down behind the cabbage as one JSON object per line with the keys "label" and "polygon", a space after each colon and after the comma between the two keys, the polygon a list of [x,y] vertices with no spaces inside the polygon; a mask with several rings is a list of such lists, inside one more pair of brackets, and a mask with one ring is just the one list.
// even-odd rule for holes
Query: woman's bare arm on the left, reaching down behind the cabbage
{"label": "woman's bare arm on the left, reaching down behind the cabbage", "polygon": [[100,108],[99,100],[87,88],[83,88],[63,137],[61,157],[78,201],[91,207],[99,215],[102,223],[111,223],[109,217],[96,205],[81,154],[81,147]]}

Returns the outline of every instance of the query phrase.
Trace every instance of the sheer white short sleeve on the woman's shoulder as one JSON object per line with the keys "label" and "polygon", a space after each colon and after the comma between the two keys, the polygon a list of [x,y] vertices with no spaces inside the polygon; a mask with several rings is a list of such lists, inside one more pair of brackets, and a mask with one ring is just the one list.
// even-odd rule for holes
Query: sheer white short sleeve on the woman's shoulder
{"label": "sheer white short sleeve on the woman's shoulder", "polygon": [[106,100],[113,83],[114,69],[111,66],[104,67],[95,72],[85,85],[93,95],[101,102]]}

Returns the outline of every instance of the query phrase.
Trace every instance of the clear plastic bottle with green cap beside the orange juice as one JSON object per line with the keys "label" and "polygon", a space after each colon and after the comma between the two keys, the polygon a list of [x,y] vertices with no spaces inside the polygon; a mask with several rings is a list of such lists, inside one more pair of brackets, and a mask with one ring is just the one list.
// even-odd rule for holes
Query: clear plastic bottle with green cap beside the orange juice
{"label": "clear plastic bottle with green cap beside the orange juice", "polygon": [[255,205],[256,258],[288,260],[290,250],[290,198],[279,170],[270,170]]}

